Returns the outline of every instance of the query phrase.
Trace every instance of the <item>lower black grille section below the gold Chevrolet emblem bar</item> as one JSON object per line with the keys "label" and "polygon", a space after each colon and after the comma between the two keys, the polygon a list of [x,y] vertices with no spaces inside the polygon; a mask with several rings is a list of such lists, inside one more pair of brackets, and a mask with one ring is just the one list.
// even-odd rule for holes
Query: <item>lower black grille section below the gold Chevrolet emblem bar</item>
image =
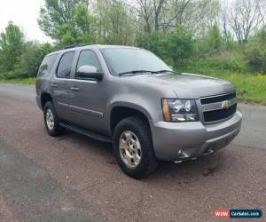
{"label": "lower black grille section below the gold Chevrolet emblem bar", "polygon": [[237,104],[229,107],[229,108],[223,108],[218,110],[212,110],[204,112],[204,121],[205,122],[212,122],[212,121],[218,121],[225,119],[231,115],[233,115],[237,110]]}

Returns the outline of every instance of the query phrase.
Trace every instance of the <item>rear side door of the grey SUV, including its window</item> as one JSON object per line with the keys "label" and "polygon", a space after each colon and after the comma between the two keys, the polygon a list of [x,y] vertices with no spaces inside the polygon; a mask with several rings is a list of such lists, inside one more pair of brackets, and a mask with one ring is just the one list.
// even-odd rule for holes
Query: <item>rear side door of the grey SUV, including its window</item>
{"label": "rear side door of the grey SUV, including its window", "polygon": [[55,106],[59,119],[70,121],[71,110],[70,103],[70,75],[74,72],[75,52],[65,52],[61,55],[56,74],[51,79],[51,91],[55,99]]}

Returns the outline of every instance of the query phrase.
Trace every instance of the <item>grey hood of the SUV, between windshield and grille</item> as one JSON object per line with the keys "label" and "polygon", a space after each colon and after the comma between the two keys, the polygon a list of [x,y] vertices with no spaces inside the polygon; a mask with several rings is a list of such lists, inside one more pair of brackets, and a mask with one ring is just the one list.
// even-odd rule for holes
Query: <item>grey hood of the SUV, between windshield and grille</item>
{"label": "grey hood of the SUV, between windshield and grille", "polygon": [[170,87],[180,99],[199,99],[235,91],[235,87],[224,80],[196,74],[135,75],[136,81],[156,84],[160,89]]}

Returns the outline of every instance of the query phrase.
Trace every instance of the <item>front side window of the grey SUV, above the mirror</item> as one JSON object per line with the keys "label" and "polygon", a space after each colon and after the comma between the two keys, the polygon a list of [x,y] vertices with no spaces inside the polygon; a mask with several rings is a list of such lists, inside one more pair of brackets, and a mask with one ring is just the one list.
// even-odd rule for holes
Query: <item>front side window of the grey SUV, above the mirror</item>
{"label": "front side window of the grey SUV, above the mirror", "polygon": [[82,66],[93,66],[96,67],[98,71],[102,71],[97,55],[90,50],[85,50],[81,52],[76,70],[78,70],[79,67]]}

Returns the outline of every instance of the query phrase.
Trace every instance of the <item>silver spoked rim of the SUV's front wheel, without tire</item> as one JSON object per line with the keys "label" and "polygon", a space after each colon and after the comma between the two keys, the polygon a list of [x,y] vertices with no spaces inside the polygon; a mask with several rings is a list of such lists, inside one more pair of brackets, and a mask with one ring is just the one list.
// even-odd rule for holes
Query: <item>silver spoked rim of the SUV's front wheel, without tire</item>
{"label": "silver spoked rim of the SUV's front wheel, without tire", "polygon": [[137,136],[132,131],[121,133],[119,150],[123,163],[129,168],[136,168],[141,161],[141,146]]}

